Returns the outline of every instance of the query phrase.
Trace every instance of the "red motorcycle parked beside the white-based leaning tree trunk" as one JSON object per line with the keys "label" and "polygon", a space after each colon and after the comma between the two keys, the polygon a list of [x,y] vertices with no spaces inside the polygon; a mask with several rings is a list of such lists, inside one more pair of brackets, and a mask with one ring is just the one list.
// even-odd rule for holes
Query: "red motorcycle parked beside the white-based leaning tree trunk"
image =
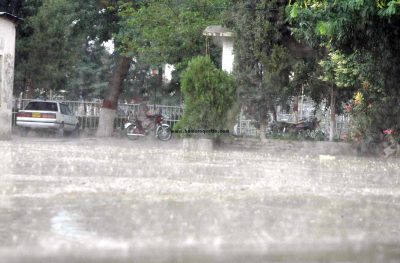
{"label": "red motorcycle parked beside the white-based leaning tree trunk", "polygon": [[[155,137],[161,141],[168,141],[171,139],[172,132],[171,127],[163,123],[164,118],[161,114],[154,115],[154,127],[152,130],[155,130]],[[137,118],[134,118],[132,121],[125,123],[124,125],[126,131],[126,137],[130,140],[137,140],[139,137],[146,136],[149,134],[149,130],[143,128],[141,121]]]}

